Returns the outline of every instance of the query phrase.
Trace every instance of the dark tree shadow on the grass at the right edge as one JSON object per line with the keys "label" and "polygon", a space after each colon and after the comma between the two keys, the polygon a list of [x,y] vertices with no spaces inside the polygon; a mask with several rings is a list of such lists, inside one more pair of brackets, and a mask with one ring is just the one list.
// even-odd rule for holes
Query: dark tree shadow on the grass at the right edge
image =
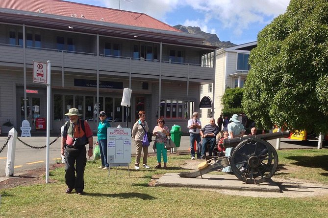
{"label": "dark tree shadow on the grass at the right edge", "polygon": [[293,163],[297,166],[302,167],[312,167],[312,168],[321,168],[325,171],[328,171],[328,155],[320,155],[320,156],[289,156],[285,157],[286,159],[295,160],[296,163]]}

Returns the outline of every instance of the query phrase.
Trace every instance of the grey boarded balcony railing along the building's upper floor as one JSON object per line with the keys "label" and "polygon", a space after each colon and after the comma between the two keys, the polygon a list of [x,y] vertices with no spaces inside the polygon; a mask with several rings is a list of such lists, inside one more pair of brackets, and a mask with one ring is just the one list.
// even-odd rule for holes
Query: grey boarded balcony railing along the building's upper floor
{"label": "grey boarded balcony railing along the building's upper floor", "polygon": [[[0,44],[0,62],[23,64],[24,50],[21,46]],[[27,47],[25,49],[26,64],[33,61],[48,61],[51,66],[78,69],[97,70],[98,61],[95,53],[65,51],[50,48]],[[158,60],[131,58],[123,56],[99,56],[99,70],[101,74],[129,73],[132,76],[143,75],[159,76],[160,63]],[[170,78],[186,78],[197,80],[214,79],[214,67],[197,64],[162,61],[161,75]]]}

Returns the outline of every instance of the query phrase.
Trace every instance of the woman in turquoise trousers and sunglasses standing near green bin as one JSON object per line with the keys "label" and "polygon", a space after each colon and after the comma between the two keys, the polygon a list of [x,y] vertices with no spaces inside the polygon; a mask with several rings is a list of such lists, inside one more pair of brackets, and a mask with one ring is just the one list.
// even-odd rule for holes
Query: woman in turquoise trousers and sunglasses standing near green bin
{"label": "woman in turquoise trousers and sunglasses standing near green bin", "polygon": [[163,162],[164,166],[163,168],[166,169],[166,163],[167,163],[167,149],[164,148],[164,144],[167,140],[167,136],[170,135],[169,128],[167,126],[164,126],[165,121],[163,118],[157,119],[157,126],[155,126],[154,130],[152,131],[152,135],[156,136],[155,143],[156,143],[156,153],[157,153],[157,162],[158,165],[155,166],[155,169],[161,168],[161,160],[163,155]]}

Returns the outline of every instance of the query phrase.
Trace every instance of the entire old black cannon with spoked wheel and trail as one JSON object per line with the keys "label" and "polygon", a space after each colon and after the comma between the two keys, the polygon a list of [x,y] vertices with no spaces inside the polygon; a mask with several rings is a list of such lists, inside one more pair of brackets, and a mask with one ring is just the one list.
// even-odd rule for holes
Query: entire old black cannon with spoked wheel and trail
{"label": "entire old black cannon with spoked wheel and trail", "polygon": [[[225,148],[231,148],[231,155],[207,160],[204,168],[193,172],[182,172],[180,177],[195,178],[203,174],[231,166],[233,174],[248,184],[259,184],[270,179],[278,167],[276,149],[266,140],[289,136],[289,131],[259,134],[225,139]],[[207,166],[206,166],[207,165]]]}

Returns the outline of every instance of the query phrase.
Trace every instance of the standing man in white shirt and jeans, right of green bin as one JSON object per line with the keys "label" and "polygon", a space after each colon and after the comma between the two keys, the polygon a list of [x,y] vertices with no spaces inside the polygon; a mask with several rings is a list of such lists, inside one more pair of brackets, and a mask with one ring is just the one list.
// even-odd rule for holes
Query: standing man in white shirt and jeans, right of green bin
{"label": "standing man in white shirt and jeans, right of green bin", "polygon": [[[201,121],[198,119],[198,112],[193,113],[193,118],[188,120],[188,129],[190,133],[190,153],[191,159],[195,159],[195,140],[197,141],[197,146],[201,141],[200,129],[202,129]],[[197,157],[200,158],[200,151],[197,151]]]}

